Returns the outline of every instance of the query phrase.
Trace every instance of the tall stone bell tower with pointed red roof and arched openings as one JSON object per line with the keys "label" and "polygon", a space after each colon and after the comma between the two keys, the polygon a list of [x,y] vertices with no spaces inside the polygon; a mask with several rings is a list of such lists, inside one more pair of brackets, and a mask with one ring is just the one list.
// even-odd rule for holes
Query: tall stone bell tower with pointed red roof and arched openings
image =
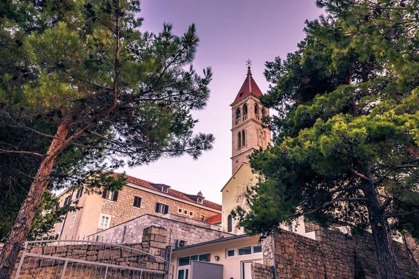
{"label": "tall stone bell tower with pointed red roof and arched openings", "polygon": [[271,132],[263,128],[261,122],[263,116],[269,116],[269,110],[260,104],[259,98],[263,93],[251,76],[250,62],[246,80],[230,105],[233,174],[243,163],[249,163],[248,156],[253,150],[265,149],[271,142]]}

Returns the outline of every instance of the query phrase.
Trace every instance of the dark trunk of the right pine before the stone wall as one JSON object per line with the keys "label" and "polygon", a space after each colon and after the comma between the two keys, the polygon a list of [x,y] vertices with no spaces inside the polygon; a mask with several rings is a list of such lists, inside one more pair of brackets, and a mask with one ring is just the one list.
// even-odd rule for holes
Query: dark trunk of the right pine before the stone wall
{"label": "dark trunk of the right pine before the stone wall", "polygon": [[[371,176],[369,176],[371,177]],[[369,182],[362,188],[367,201],[369,223],[374,238],[378,269],[383,279],[403,278],[397,265],[397,257],[393,245],[392,235],[387,220],[381,209],[381,202],[374,183]]]}

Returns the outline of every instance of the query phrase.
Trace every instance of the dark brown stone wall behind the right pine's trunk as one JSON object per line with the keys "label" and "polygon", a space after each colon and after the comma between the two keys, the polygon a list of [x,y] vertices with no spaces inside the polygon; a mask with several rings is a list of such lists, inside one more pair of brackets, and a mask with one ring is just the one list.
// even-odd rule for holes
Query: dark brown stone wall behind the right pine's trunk
{"label": "dark brown stone wall behind the right pine's trunk", "polygon": [[[275,234],[278,278],[384,279],[379,274],[374,241],[370,234],[348,236],[330,229],[316,229],[315,232],[316,240],[284,230]],[[395,243],[395,248],[399,268],[405,278],[419,278],[399,243]],[[255,272],[265,269],[263,266],[254,267]],[[272,278],[258,276],[262,276],[256,277],[258,279]]]}

